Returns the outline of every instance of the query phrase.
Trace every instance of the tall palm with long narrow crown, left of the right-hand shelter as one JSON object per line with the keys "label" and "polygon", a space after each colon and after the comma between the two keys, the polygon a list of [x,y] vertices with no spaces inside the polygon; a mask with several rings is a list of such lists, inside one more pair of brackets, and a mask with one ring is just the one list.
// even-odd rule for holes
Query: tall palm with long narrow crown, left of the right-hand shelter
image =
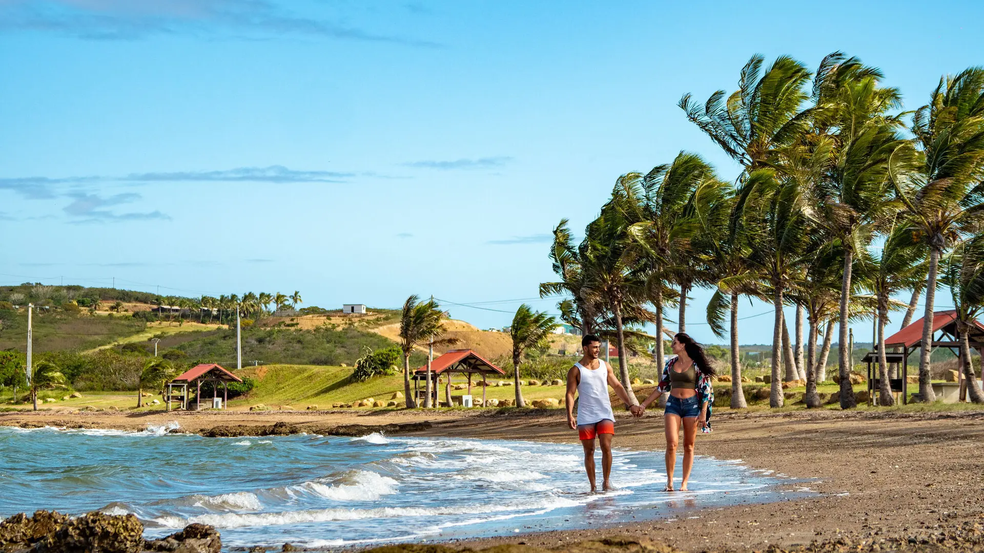
{"label": "tall palm with long narrow crown, left of the right-hand shelter", "polygon": [[[814,81],[814,97],[821,107],[815,114],[818,155],[830,155],[826,178],[812,187],[816,195],[817,222],[844,249],[840,285],[840,343],[847,343],[851,268],[854,257],[871,243],[875,234],[893,220],[889,160],[903,140],[897,116],[888,112],[901,106],[901,94],[883,88],[877,69],[857,58],[844,59],[840,52],[821,63]],[[856,405],[850,383],[850,351],[840,347],[840,406]]]}

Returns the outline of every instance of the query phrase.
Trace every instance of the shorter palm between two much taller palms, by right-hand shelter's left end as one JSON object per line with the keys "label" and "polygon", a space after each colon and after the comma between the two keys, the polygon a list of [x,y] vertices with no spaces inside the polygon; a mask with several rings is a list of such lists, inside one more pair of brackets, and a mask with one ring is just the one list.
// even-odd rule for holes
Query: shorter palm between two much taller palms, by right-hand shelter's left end
{"label": "shorter palm between two much taller palms, by right-hand shelter's left end", "polygon": [[878,300],[878,374],[881,405],[892,405],[892,383],[885,349],[885,326],[889,323],[889,309],[896,306],[892,295],[918,285],[926,277],[925,244],[913,240],[907,223],[894,224],[881,253],[863,256],[862,282]]}

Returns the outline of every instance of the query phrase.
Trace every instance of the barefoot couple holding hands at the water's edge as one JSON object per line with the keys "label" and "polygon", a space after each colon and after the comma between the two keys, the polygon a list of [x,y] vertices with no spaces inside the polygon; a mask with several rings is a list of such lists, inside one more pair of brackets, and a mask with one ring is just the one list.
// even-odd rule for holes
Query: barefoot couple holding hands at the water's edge
{"label": "barefoot couple holding hands at the water's edge", "polygon": [[[594,483],[594,440],[601,446],[601,469],[604,475],[601,489],[613,489],[609,476],[612,467],[612,437],[615,435],[615,415],[612,412],[608,387],[629,405],[632,401],[622,383],[615,377],[611,365],[599,357],[601,340],[587,335],[581,340],[584,356],[567,373],[567,422],[577,430],[584,446],[584,469],[591,484],[591,492],[597,491]],[[687,481],[694,466],[694,442],[697,430],[710,432],[710,404],[714,400],[711,379],[714,368],[707,362],[704,348],[684,333],[673,337],[670,348],[676,357],[663,367],[659,385],[639,405],[631,405],[632,414],[640,417],[646,407],[669,392],[663,421],[666,430],[666,488],[672,492],[673,468],[679,445],[680,427],[683,426],[683,479],[680,491],[687,491]],[[574,415],[575,394],[578,396],[578,414]]]}

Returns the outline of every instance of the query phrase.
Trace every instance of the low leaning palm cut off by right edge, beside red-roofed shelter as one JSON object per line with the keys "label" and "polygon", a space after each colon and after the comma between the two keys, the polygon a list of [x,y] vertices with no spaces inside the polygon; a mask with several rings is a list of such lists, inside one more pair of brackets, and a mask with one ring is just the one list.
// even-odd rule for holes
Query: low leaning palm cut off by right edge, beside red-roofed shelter
{"label": "low leaning palm cut off by right edge, beside red-roofed shelter", "polygon": [[984,235],[976,235],[953,249],[944,263],[943,283],[950,287],[956,309],[956,338],[963,358],[963,377],[974,403],[984,403],[984,394],[977,387],[971,366],[970,331],[977,316],[984,311]]}

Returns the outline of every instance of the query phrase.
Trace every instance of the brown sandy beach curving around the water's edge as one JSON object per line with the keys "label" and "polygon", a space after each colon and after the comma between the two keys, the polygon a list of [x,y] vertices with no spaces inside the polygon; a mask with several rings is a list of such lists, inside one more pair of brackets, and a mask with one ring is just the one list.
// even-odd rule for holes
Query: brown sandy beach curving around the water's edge
{"label": "brown sandy beach curving around the water's edge", "polygon": [[[269,427],[277,422],[305,430],[338,425],[406,425],[406,435],[455,436],[577,443],[563,411],[525,412],[171,412],[161,414],[8,412],[0,424],[85,426],[141,430],[177,421],[185,431],[207,433],[216,426]],[[284,425],[280,425],[282,428]],[[655,520],[582,531],[517,534],[457,543],[473,548],[523,543],[556,548],[604,536],[631,536],[686,551],[762,550],[811,542],[857,545],[936,543],[957,528],[980,527],[984,508],[984,411],[725,412],[714,432],[699,435],[697,454],[740,459],[745,464],[806,480],[813,496],[763,505],[693,513],[678,521]],[[662,450],[661,413],[642,419],[619,413],[615,445]],[[697,462],[701,460],[698,459]],[[679,471],[679,467],[677,469]],[[585,481],[586,486],[586,481]],[[963,530],[961,530],[963,531]],[[887,540],[883,542],[881,540]],[[949,543],[949,542],[948,542]],[[874,548],[872,546],[874,545]],[[959,549],[950,543],[945,549]]]}

